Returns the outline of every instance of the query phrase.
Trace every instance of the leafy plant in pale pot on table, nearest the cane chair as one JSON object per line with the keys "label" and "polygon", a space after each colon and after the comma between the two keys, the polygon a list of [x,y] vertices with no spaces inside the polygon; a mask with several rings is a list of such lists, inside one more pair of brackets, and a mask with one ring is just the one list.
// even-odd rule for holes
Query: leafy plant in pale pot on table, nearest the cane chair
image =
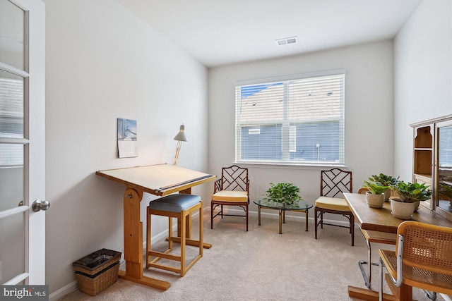
{"label": "leafy plant in pale pot on table, nearest the cane chair", "polygon": [[393,216],[399,219],[411,219],[416,205],[432,197],[432,190],[426,183],[405,183],[400,181],[391,187],[398,197],[391,197]]}

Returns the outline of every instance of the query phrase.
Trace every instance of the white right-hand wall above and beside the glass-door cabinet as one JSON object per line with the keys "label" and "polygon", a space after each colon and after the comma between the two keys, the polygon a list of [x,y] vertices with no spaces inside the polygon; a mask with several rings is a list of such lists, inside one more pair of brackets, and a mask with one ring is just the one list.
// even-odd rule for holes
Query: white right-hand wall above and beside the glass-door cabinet
{"label": "white right-hand wall above and beside the glass-door cabinet", "polygon": [[423,1],[394,42],[395,171],[412,180],[410,123],[452,113],[452,1]]}

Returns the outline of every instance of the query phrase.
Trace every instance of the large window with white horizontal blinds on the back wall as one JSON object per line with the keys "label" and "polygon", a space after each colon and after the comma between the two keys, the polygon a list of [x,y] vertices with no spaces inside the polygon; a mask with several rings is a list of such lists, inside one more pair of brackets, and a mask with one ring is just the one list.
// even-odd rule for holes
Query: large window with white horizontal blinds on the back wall
{"label": "large window with white horizontal blinds on the back wall", "polygon": [[235,86],[237,163],[343,165],[345,71]]}

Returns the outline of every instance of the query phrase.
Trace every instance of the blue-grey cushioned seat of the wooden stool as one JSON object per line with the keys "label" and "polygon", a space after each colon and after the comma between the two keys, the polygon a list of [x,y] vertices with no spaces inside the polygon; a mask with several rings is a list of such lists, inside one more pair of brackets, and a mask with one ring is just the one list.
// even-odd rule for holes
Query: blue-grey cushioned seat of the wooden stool
{"label": "blue-grey cushioned seat of the wooden stool", "polygon": [[166,197],[160,197],[149,202],[149,209],[162,210],[171,212],[180,212],[182,210],[189,209],[194,205],[201,202],[201,197],[198,195],[167,195]]}

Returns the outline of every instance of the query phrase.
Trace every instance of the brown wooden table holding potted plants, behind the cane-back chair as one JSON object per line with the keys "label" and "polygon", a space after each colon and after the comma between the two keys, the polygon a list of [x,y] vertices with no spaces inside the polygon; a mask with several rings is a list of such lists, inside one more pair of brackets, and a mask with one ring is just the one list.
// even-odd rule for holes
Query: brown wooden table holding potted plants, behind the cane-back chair
{"label": "brown wooden table holding potted plants, behind the cane-back chair", "polygon": [[[385,202],[383,208],[371,208],[367,205],[364,194],[344,193],[344,197],[353,215],[355,215],[355,221],[363,230],[397,233],[398,225],[403,222],[402,219],[391,214],[389,202]],[[415,211],[412,220],[452,228],[452,221],[422,205]],[[383,300],[412,301],[412,287],[410,285],[403,284],[400,288],[397,288],[388,274],[386,274],[386,282],[393,295],[383,294]],[[379,300],[379,292],[352,285],[348,286],[348,295],[361,300]]]}

